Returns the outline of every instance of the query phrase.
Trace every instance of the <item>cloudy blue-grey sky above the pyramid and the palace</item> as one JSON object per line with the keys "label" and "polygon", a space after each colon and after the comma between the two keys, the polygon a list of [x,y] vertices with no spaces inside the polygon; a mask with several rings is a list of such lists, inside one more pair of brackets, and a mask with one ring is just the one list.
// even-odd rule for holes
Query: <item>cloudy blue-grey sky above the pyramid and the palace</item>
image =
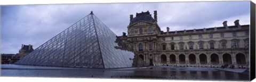
{"label": "cloudy blue-grey sky above the pyramid and the palace", "polygon": [[93,11],[116,35],[127,33],[130,15],[157,11],[161,30],[193,30],[250,24],[250,1],[1,5],[1,53],[18,53],[21,44],[36,49]]}

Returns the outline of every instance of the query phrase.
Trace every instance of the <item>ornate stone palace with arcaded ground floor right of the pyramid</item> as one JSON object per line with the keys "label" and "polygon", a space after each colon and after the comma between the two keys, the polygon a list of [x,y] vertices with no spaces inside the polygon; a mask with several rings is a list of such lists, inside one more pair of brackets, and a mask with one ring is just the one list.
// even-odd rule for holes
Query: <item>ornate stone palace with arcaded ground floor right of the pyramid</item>
{"label": "ornate stone palace with arcaded ground floor right of the pyramid", "polygon": [[130,15],[127,36],[121,38],[150,66],[249,68],[249,26],[223,26],[204,29],[161,31],[149,12]]}

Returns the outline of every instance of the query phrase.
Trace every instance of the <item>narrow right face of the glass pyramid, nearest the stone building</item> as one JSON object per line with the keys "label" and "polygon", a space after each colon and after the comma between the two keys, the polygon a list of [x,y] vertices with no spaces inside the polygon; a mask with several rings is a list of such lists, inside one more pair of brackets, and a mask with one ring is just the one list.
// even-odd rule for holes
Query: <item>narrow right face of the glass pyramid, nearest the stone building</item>
{"label": "narrow right face of the glass pyramid, nearest the stone building", "polygon": [[105,68],[132,67],[133,52],[94,15],[93,20]]}

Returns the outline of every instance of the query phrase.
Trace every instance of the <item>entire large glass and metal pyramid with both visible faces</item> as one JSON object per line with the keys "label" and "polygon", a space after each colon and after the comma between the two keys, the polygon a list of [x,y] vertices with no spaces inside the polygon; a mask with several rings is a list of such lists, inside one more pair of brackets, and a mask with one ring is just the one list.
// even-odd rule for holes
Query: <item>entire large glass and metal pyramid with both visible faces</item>
{"label": "entire large glass and metal pyramid with both visible faces", "polygon": [[45,42],[15,64],[82,67],[132,67],[134,53],[122,45],[93,13]]}

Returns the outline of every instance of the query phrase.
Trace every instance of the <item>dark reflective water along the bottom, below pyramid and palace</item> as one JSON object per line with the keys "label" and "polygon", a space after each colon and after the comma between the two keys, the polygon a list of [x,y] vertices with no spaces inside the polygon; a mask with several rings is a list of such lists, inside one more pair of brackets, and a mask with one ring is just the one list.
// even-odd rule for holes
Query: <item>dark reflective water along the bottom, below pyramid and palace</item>
{"label": "dark reflective water along the bottom, below pyramid and palace", "polygon": [[249,80],[249,75],[228,71],[194,71],[178,68],[145,69],[3,69],[1,76],[86,77],[86,78],[153,78],[194,80]]}

